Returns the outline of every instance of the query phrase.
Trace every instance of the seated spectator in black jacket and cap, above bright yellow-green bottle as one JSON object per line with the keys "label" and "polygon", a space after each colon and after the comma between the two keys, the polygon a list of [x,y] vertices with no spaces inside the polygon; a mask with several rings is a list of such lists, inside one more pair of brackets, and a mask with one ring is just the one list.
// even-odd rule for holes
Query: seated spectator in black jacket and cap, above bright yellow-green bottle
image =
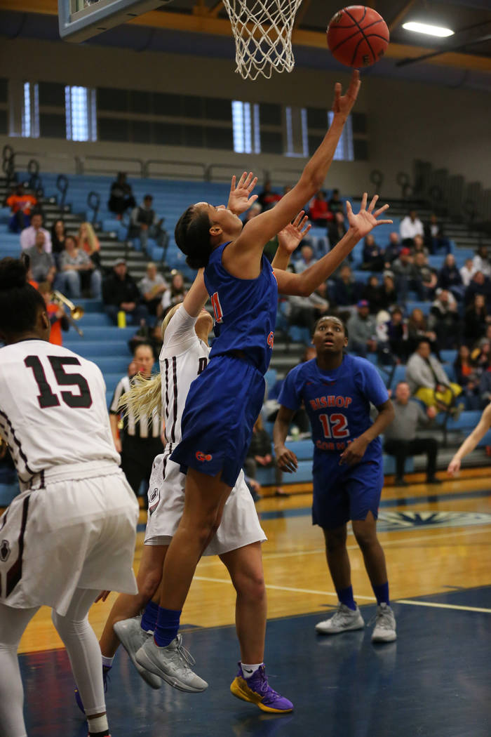
{"label": "seated spectator in black jacket and cap, above bright yellow-green bottle", "polygon": [[127,318],[131,318],[133,325],[146,321],[148,311],[140,304],[140,293],[135,280],[127,273],[127,265],[124,259],[116,259],[113,270],[102,284],[102,299],[105,311],[113,323],[118,322],[118,312],[124,312]]}

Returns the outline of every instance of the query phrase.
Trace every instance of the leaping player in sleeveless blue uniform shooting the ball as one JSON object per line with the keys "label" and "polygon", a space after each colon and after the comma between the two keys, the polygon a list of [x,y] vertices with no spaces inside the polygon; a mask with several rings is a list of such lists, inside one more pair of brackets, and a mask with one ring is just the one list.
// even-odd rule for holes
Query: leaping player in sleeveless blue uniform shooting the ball
{"label": "leaping player in sleeveless blue uniform shooting the ball", "polygon": [[[205,286],[216,318],[216,339],[208,367],[191,384],[183,413],[183,435],[171,459],[186,478],[183,517],[163,567],[163,589],[153,640],[136,659],[158,676],[169,677],[180,614],[197,563],[218,527],[222,510],[239,475],[252,427],[264,399],[264,373],[274,340],[278,290],[311,294],[376,225],[386,206],[367,208],[367,195],[355,215],[347,203],[350,228],[345,237],[301,274],[273,272],[263,248],[290,223],[324,183],[346,119],[356,100],[359,74],[342,97],[336,84],[333,122],[300,180],[274,209],[242,228],[239,217],[209,203],[197,203],[180,217],[175,238],[191,268],[205,267]],[[256,664],[259,668],[261,664]],[[174,670],[175,660],[171,671]],[[256,668],[257,670],[257,668]]]}

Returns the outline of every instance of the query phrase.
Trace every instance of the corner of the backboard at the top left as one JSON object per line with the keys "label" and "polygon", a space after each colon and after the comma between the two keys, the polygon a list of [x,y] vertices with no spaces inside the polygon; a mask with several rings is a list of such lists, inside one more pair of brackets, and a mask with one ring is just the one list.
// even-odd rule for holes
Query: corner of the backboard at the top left
{"label": "corner of the backboard at the top left", "polygon": [[60,36],[65,41],[88,38],[148,13],[170,0],[58,0]]}

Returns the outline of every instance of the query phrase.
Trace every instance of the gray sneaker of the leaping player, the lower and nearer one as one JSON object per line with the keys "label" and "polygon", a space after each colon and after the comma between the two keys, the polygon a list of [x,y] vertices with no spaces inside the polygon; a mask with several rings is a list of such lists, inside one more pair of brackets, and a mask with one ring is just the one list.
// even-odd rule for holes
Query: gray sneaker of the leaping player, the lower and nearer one
{"label": "gray sneaker of the leaping player, the lower and nearer one", "polygon": [[159,647],[153,638],[148,638],[138,650],[136,660],[179,691],[197,694],[208,688],[208,683],[189,667],[194,666],[195,660],[183,646],[183,635],[177,635],[166,647]]}

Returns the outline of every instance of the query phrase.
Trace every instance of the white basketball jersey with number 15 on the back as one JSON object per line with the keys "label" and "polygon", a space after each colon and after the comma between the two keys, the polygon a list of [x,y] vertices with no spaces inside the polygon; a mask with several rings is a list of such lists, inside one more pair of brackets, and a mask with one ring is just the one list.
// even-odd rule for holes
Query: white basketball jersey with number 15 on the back
{"label": "white basketball jersey with number 15 on the back", "polygon": [[19,479],[60,464],[114,461],[100,369],[63,346],[21,340],[0,349],[0,435]]}

